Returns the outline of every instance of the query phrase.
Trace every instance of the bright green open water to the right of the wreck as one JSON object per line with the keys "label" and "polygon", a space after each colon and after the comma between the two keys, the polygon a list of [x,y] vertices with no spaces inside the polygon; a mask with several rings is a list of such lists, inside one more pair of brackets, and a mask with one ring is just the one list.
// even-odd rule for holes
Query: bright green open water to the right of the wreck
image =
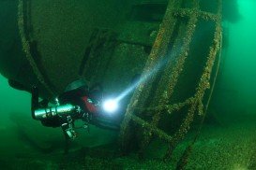
{"label": "bright green open water to the right of the wreck", "polygon": [[[240,20],[223,22],[228,47],[222,50],[213,109],[227,121],[256,114],[256,2],[238,1]],[[221,116],[222,115],[222,116]]]}

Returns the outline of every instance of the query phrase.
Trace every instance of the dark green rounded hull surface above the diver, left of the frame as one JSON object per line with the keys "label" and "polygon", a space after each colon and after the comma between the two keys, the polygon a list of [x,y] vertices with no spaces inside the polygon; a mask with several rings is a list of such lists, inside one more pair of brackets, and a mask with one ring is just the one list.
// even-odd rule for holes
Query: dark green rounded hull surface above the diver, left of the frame
{"label": "dark green rounded hull surface above the diver, left of the frame", "polygon": [[[154,6],[161,11],[138,17]],[[136,1],[19,1],[23,50],[41,95],[53,97],[78,78],[123,90],[141,73],[164,9]]]}

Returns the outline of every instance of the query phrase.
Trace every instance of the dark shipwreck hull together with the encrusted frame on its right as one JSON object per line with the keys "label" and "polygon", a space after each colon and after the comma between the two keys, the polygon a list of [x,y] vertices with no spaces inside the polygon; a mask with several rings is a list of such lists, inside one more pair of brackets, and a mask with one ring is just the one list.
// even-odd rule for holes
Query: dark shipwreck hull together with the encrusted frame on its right
{"label": "dark shipwreck hull together with the encrusted frame on its right", "polygon": [[194,117],[203,119],[218,71],[221,0],[211,6],[206,0],[0,3],[11,9],[1,11],[11,16],[1,31],[12,35],[0,71],[24,89],[37,85],[51,99],[85,78],[118,94],[135,76],[146,78],[122,123],[124,151],[131,139],[143,152],[160,138],[170,145],[170,158]]}

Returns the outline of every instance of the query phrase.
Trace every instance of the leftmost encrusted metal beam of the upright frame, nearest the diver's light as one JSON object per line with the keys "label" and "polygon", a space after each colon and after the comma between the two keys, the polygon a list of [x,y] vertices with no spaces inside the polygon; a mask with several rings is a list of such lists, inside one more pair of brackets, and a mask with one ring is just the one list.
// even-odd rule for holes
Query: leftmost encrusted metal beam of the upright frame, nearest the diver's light
{"label": "leftmost encrusted metal beam of the upright frame, nearest the diver's light", "polygon": [[[166,55],[168,50],[168,43],[171,40],[171,36],[173,34],[174,26],[176,24],[176,19],[173,17],[173,10],[175,7],[180,7],[181,2],[170,0],[168,7],[166,9],[165,16],[163,21],[159,27],[158,36],[156,41],[152,47],[151,53],[148,57],[148,60],[143,69],[143,75],[149,75],[151,70],[153,70],[158,64],[160,60],[162,60],[163,56]],[[131,98],[131,102],[128,105],[127,113],[125,119],[123,120],[121,126],[121,145],[123,148],[126,148],[129,134],[129,122],[131,120],[130,114],[132,114],[137,106],[143,106],[143,103],[147,99],[149,92],[152,88],[152,84],[157,77],[157,71],[153,73],[150,78],[148,78],[146,85],[141,84],[133,93]],[[140,101],[139,101],[140,100]],[[138,101],[140,104],[138,104]]]}

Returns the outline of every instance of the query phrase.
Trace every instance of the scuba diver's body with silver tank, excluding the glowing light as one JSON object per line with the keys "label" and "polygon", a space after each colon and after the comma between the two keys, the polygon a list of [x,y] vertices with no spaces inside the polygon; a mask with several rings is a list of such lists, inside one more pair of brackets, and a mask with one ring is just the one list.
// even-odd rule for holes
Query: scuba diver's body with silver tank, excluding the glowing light
{"label": "scuba diver's body with silver tank, excluding the glowing light", "polygon": [[[61,127],[66,139],[75,139],[77,129],[87,129],[93,124],[100,128],[119,130],[119,124],[102,109],[103,92],[100,84],[88,88],[82,79],[68,85],[65,92],[49,105],[48,100],[38,101],[38,88],[32,88],[32,117],[47,127]],[[83,120],[83,127],[76,127],[75,120]]]}

